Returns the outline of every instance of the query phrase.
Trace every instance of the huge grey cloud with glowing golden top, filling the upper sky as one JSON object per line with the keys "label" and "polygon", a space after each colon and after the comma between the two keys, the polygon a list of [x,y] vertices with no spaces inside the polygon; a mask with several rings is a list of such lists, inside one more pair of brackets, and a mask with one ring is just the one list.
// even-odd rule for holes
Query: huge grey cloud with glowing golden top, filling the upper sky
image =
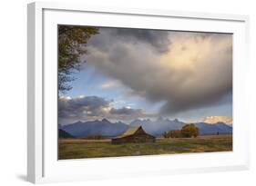
{"label": "huge grey cloud with glowing golden top, filling the upper sky", "polygon": [[231,34],[115,28],[102,28],[99,33],[89,40],[88,54],[82,56],[85,65],[117,79],[149,102],[164,102],[161,114],[230,101]]}

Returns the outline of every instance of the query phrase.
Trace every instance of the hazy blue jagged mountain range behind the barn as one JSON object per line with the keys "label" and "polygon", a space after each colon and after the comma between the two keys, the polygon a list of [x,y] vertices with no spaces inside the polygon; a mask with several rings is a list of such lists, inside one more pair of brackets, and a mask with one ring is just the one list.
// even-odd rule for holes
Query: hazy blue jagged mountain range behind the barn
{"label": "hazy blue jagged mountain range behind the barn", "polygon": [[[65,125],[58,124],[58,128],[75,137],[92,135],[116,137],[127,131],[130,126],[142,126],[145,132],[159,137],[164,132],[180,130],[185,124],[185,122],[180,122],[178,119],[169,120],[159,117],[156,121],[137,119],[129,124],[124,122],[109,122],[107,119],[89,122],[79,121]],[[195,125],[200,129],[200,135],[232,133],[232,126],[224,122],[196,122]]]}

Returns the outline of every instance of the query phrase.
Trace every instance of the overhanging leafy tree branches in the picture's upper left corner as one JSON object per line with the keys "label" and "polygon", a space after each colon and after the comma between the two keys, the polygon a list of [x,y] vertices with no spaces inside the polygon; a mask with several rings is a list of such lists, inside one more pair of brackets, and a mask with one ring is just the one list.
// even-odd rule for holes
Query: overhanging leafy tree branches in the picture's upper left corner
{"label": "overhanging leafy tree branches in the picture's upper left corner", "polygon": [[59,25],[58,26],[58,91],[65,93],[72,89],[68,84],[74,80],[72,73],[79,71],[81,54],[86,54],[88,39],[98,34],[96,27]]}

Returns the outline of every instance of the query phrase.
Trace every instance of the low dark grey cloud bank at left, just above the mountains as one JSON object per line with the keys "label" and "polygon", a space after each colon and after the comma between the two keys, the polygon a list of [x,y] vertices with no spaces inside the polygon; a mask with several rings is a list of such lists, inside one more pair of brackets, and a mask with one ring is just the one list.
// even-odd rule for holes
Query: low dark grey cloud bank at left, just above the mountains
{"label": "low dark grey cloud bank at left, just above the mountains", "polygon": [[108,118],[112,121],[131,120],[138,117],[149,116],[142,109],[113,108],[111,103],[97,96],[80,96],[71,98],[60,96],[58,99],[58,123],[71,123],[77,121],[90,121]]}

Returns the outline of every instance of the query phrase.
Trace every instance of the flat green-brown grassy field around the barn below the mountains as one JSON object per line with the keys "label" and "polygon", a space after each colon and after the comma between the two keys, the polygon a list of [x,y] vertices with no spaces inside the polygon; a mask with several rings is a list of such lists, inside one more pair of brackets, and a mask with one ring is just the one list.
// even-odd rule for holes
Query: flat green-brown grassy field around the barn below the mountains
{"label": "flat green-brown grassy field around the barn below the mountains", "polygon": [[232,135],[162,139],[157,142],[111,144],[110,140],[59,139],[58,159],[81,159],[189,152],[232,151]]}

